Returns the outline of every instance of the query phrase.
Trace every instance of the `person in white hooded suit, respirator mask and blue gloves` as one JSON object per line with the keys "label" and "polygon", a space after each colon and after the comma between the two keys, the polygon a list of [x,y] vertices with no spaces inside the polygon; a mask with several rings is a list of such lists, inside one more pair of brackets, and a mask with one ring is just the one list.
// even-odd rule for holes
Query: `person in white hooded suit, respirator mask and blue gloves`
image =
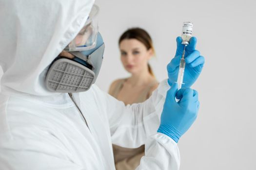
{"label": "person in white hooded suit, respirator mask and blue gloves", "polygon": [[[104,43],[93,4],[0,0],[0,170],[115,170],[112,143],[145,144],[137,170],[179,169],[177,141],[197,117],[197,92],[177,91],[178,56],[143,103],[125,106],[102,92],[94,85]],[[198,51],[189,52],[188,70],[202,68]]]}

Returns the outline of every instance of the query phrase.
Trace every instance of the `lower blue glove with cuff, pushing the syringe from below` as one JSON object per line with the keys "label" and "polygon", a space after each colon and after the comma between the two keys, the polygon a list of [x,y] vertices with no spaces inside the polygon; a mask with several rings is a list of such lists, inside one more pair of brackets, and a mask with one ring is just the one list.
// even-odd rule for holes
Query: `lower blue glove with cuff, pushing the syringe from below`
{"label": "lower blue glove with cuff, pushing the syringe from below", "polygon": [[[179,99],[176,102],[175,97]],[[198,93],[191,88],[177,91],[177,83],[167,91],[158,132],[178,142],[197,118],[199,109]]]}

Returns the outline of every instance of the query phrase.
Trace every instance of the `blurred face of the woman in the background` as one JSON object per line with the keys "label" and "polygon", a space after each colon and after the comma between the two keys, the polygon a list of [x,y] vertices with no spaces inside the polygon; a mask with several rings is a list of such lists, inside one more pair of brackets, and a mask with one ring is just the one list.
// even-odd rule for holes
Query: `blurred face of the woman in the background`
{"label": "blurred face of the woman in the background", "polygon": [[119,44],[123,67],[132,74],[138,74],[143,69],[148,69],[148,60],[153,55],[153,50],[137,39],[124,39]]}

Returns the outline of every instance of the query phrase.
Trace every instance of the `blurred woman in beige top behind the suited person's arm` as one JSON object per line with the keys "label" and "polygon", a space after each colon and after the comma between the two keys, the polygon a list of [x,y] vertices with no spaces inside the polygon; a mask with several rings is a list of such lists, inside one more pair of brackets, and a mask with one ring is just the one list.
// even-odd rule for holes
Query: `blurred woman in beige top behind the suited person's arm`
{"label": "blurred woman in beige top behind the suited person's arm", "polygon": [[[155,55],[152,39],[145,30],[132,28],[120,36],[118,43],[121,62],[131,76],[114,81],[109,94],[126,105],[144,102],[158,87],[158,81],[148,63]],[[136,149],[113,145],[116,169],[135,170],[144,150],[144,145]]]}

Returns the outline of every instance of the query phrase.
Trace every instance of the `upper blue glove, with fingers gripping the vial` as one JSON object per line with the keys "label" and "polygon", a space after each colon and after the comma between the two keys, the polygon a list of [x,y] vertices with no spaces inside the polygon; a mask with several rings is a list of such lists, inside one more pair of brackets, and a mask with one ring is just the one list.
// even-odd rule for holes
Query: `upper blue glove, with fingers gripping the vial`
{"label": "upper blue glove, with fingers gripping the vial", "polygon": [[[184,45],[181,44],[182,39],[180,36],[176,38],[177,42],[177,50],[175,57],[172,61],[167,65],[168,71],[168,83],[172,85],[174,82],[177,82],[178,77],[178,68],[180,59],[182,56],[182,52],[184,50]],[[185,73],[183,78],[182,88],[190,88],[193,85],[199,74],[201,73],[204,65],[204,57],[200,55],[200,52],[196,50],[197,38],[191,37],[189,41],[189,45],[185,49]]]}

